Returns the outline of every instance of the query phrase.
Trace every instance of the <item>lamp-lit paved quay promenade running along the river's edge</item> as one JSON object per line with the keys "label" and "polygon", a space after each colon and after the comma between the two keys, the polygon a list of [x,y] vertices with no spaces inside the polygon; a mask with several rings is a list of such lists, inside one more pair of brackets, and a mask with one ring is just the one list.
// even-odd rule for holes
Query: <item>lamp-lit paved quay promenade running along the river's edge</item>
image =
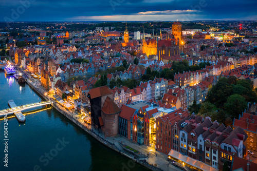
{"label": "lamp-lit paved quay promenade running along the river's edge", "polygon": [[[95,129],[91,125],[88,125],[87,123],[85,123],[84,120],[81,119],[81,117],[78,117],[77,112],[75,111],[72,112],[71,110],[67,110],[66,108],[58,104],[56,101],[54,101],[52,97],[48,96],[47,91],[40,85],[39,80],[33,79],[32,77],[30,77],[30,74],[26,73],[21,68],[19,68],[19,70],[27,78],[26,83],[35,92],[40,94],[40,96],[45,100],[50,100],[52,102],[52,107],[54,107],[56,110],[62,113],[63,116],[68,118],[71,122],[79,126],[84,131],[86,131],[90,136],[94,137],[103,145],[117,151],[117,153],[123,156],[126,156],[127,158],[131,159],[132,162],[139,163],[151,170],[156,170],[156,171],[159,171],[159,170],[180,171],[181,170],[180,168],[175,167],[174,165],[172,165],[171,162],[168,161],[168,155],[159,153],[159,151],[156,151],[152,147],[148,147],[146,145],[139,146],[138,144],[135,144],[120,135],[115,137],[105,137],[101,130]],[[138,153],[141,153],[141,155],[137,155],[133,151],[130,152],[128,150],[125,150],[122,147],[122,145],[129,146],[135,149],[136,151],[138,151]],[[127,170],[127,168],[130,168],[128,166],[133,166],[133,164],[130,164],[130,165],[127,164],[126,166],[124,166],[123,170]],[[133,168],[131,168],[131,170],[133,170]]]}

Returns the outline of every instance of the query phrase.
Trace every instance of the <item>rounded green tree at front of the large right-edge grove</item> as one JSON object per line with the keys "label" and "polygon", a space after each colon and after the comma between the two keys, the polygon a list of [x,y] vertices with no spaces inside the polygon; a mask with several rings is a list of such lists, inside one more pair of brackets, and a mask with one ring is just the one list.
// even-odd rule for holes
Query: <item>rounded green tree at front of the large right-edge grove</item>
{"label": "rounded green tree at front of the large right-edge grove", "polygon": [[228,97],[224,107],[232,118],[237,119],[238,116],[247,108],[247,102],[245,101],[245,98],[239,94],[233,94]]}

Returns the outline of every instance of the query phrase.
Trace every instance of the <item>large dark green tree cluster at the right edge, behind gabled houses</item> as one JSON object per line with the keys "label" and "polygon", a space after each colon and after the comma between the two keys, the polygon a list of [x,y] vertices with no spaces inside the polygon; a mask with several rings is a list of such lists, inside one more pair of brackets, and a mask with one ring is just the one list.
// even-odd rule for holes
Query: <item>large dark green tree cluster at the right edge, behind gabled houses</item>
{"label": "large dark green tree cluster at the right edge, behind gabled houses", "polygon": [[248,102],[257,102],[257,95],[252,90],[248,80],[238,80],[236,77],[222,77],[207,94],[207,101],[201,105],[190,106],[191,112],[203,117],[211,117],[213,121],[232,125],[233,118],[247,108]]}

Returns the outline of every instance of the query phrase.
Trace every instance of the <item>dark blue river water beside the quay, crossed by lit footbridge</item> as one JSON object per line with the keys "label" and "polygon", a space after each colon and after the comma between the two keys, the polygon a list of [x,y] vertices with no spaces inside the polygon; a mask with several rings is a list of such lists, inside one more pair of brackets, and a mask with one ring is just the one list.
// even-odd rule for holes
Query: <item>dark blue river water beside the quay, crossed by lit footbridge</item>
{"label": "dark blue river water beside the quay, crossed by lit footbridge", "polygon": [[[11,99],[17,106],[43,101],[27,84],[21,86],[0,71],[0,110],[8,108]],[[148,170],[102,145],[54,108],[26,115],[25,124],[8,119],[8,153],[4,153],[4,120],[0,139],[1,171]]]}

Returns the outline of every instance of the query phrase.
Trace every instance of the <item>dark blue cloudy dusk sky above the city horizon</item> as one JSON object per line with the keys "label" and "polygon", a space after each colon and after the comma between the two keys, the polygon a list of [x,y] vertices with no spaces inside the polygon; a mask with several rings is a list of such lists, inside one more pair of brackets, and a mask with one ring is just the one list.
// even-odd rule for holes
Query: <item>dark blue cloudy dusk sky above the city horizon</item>
{"label": "dark blue cloudy dusk sky above the city horizon", "polygon": [[1,21],[257,20],[256,0],[2,0],[1,2]]}

